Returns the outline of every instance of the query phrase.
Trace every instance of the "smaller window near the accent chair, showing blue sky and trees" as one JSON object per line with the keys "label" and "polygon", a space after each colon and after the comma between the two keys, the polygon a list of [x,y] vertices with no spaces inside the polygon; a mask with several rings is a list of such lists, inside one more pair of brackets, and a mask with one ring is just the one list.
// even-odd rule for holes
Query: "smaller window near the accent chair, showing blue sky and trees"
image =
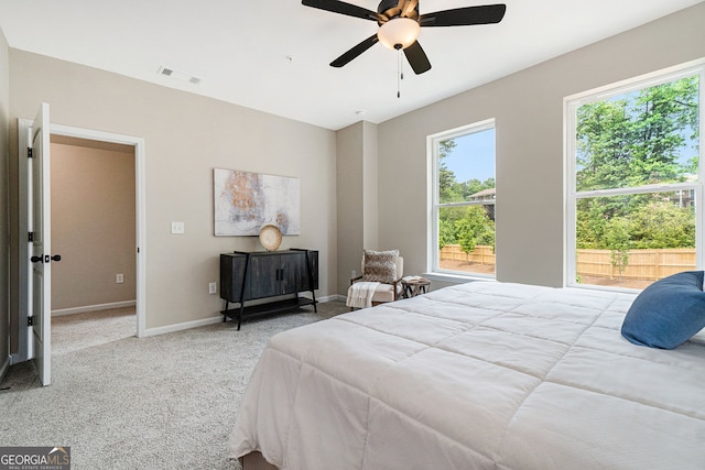
{"label": "smaller window near the accent chair, showing blue sky and trees", "polygon": [[495,276],[495,121],[429,136],[435,273]]}

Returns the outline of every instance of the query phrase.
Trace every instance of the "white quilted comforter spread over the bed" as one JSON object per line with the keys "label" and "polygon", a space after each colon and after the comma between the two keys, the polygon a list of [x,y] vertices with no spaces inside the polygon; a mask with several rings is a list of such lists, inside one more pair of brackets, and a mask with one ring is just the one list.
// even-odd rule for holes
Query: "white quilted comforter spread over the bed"
{"label": "white quilted comforter spread over the bed", "polygon": [[272,338],[228,452],[281,469],[705,469],[705,345],[632,295],[476,282]]}

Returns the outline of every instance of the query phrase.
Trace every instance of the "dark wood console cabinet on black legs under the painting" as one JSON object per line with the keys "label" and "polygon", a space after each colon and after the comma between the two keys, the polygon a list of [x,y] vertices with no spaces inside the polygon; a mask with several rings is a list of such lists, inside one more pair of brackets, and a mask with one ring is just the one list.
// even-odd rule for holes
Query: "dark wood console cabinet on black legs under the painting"
{"label": "dark wood console cabinet on black legs under the painting", "polygon": [[[313,305],[316,309],[318,288],[318,252],[291,249],[246,253],[236,251],[220,255],[220,298],[225,300],[223,321],[238,321],[243,316],[296,309]],[[311,298],[299,293],[310,292]],[[245,305],[249,300],[293,296],[268,303]],[[230,304],[238,304],[230,309]]]}

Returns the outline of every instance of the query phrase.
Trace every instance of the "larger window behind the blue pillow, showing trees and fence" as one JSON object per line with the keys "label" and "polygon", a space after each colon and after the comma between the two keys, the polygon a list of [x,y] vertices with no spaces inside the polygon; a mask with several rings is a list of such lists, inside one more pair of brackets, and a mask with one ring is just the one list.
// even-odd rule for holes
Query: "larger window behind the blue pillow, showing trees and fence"
{"label": "larger window behind the blue pillow, showing trees and fence", "polygon": [[702,269],[703,64],[566,100],[567,285]]}

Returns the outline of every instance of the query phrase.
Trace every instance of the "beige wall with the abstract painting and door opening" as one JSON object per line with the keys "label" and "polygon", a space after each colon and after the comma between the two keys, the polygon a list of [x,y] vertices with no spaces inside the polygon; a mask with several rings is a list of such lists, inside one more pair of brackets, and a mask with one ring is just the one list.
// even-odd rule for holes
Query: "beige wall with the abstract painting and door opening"
{"label": "beige wall with the abstract painting and door opening", "polygon": [[[10,86],[12,120],[46,101],[53,123],[144,139],[148,329],[216,317],[219,253],[261,250],[256,237],[213,234],[216,167],[300,178],[301,236],[281,249],[318,250],[317,295],[335,293],[335,132],[12,48]],[[17,159],[17,124],[10,138]],[[172,221],[185,234],[171,234]]]}

